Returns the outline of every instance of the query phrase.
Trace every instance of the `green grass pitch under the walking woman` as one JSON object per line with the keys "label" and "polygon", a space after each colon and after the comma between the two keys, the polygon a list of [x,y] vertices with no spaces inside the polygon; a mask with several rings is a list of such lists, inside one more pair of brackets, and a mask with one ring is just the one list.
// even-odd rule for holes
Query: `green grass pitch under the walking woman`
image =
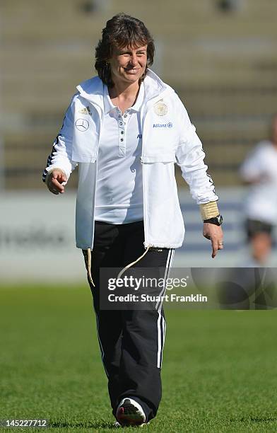
{"label": "green grass pitch under the walking woman", "polygon": [[[163,400],[143,431],[277,431],[276,318],[167,311]],[[0,333],[0,419],[116,431],[87,287],[0,289]]]}

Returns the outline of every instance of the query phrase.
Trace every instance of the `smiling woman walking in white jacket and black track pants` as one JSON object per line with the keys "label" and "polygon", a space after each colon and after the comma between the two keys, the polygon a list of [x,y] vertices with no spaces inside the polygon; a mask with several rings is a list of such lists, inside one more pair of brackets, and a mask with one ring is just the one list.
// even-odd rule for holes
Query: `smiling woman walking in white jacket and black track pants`
{"label": "smiling woman walking in white jacket and black track pants", "polygon": [[78,165],[76,243],[86,259],[119,425],[143,425],[157,413],[165,318],[161,304],[101,310],[100,267],[162,267],[167,276],[184,238],[175,161],[201,206],[213,257],[223,248],[201,142],[175,92],[148,69],[153,56],[141,21],[124,13],[107,21],[96,47],[98,76],[77,87],[44,172],[49,190],[59,194]]}

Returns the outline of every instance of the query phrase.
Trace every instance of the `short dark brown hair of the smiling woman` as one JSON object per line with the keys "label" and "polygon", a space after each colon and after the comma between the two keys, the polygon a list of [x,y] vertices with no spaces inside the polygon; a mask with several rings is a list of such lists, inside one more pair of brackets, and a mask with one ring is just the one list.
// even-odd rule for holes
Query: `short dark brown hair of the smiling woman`
{"label": "short dark brown hair of the smiling woman", "polygon": [[[102,30],[102,39],[95,48],[95,69],[102,82],[108,87],[114,86],[110,64],[107,63],[112,57],[114,47],[141,47],[142,45],[147,45],[147,70],[147,67],[153,64],[155,45],[144,23],[125,13],[117,13],[107,21],[106,27]],[[140,81],[145,78],[146,70]]]}

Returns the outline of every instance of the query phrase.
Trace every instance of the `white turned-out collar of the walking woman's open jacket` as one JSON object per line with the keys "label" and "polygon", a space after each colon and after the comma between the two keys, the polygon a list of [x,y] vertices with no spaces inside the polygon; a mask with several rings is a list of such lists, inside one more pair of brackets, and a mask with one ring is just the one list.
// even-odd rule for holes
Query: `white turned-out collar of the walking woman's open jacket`
{"label": "white turned-out collar of the walking woman's open jacket", "polygon": [[[151,69],[147,69],[146,78],[143,83],[146,100],[156,98],[164,91],[173,91],[173,89],[165,84]],[[103,110],[104,85],[99,76],[94,76],[91,79],[83,81],[77,86],[77,89],[80,92],[80,96],[99,105]]]}

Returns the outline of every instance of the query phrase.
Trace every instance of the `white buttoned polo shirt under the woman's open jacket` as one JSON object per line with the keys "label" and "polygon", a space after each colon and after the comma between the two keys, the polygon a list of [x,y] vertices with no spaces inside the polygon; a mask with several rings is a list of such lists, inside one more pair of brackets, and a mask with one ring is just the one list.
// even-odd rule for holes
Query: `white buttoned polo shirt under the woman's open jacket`
{"label": "white buttoned polo shirt under the woman's open jacket", "polygon": [[140,110],[141,83],[136,103],[122,112],[104,88],[105,118],[98,151],[95,221],[127,224],[143,220]]}

